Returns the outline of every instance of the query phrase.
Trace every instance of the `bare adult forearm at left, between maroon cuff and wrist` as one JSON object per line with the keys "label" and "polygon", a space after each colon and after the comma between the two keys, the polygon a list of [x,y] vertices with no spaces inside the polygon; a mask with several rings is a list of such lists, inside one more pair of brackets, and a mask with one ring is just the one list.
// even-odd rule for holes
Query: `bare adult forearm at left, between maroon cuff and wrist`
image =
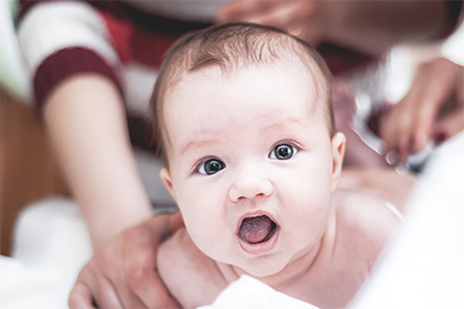
{"label": "bare adult forearm at left, between maroon cuff and wrist", "polygon": [[44,119],[94,249],[151,214],[109,79],[87,74],[64,82],[48,99]]}

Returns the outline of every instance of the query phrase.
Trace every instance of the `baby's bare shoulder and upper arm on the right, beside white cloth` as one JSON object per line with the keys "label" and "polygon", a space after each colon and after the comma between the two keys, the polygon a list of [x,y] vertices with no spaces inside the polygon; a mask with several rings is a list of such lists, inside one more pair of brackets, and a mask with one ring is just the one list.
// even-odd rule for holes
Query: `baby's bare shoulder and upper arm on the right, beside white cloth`
{"label": "baby's bare shoulder and upper arm on the right, beside white cloth", "polygon": [[293,287],[295,294],[286,291],[323,309],[347,307],[401,223],[388,203],[373,194],[338,190],[333,201],[337,233],[331,255],[314,264]]}

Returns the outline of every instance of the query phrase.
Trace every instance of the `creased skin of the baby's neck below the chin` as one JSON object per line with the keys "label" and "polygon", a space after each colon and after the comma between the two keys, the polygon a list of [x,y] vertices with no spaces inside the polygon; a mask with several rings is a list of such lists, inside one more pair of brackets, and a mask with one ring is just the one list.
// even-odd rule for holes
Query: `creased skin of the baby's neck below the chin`
{"label": "creased skin of the baby's neck below the chin", "polygon": [[[313,279],[317,281],[317,278],[324,276],[324,269],[327,269],[330,264],[336,243],[336,231],[337,221],[334,210],[329,215],[326,231],[317,242],[308,245],[295,255],[277,274],[266,277],[256,277],[256,279],[278,291],[287,291],[303,278],[305,281],[308,279],[310,281],[313,281]],[[228,284],[239,279],[242,275],[252,276],[238,266],[219,262],[217,262],[217,264]]]}

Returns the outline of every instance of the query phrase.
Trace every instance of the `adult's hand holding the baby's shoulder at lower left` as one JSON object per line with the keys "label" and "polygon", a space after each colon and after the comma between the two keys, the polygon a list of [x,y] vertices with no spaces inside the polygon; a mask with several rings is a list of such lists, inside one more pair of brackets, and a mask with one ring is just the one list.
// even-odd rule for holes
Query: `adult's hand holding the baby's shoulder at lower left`
{"label": "adult's hand holding the baby's shoulder at lower left", "polygon": [[81,270],[70,308],[179,308],[157,271],[156,256],[180,214],[152,216],[126,230]]}

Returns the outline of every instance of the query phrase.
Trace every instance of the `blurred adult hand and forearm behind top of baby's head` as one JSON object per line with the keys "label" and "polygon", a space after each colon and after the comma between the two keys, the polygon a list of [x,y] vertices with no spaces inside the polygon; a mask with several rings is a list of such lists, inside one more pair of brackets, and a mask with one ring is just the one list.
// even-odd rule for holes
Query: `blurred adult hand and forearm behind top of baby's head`
{"label": "blurred adult hand and forearm behind top of baby's head", "polygon": [[274,25],[313,45],[326,41],[375,54],[439,39],[450,22],[445,1],[235,0],[217,19]]}

